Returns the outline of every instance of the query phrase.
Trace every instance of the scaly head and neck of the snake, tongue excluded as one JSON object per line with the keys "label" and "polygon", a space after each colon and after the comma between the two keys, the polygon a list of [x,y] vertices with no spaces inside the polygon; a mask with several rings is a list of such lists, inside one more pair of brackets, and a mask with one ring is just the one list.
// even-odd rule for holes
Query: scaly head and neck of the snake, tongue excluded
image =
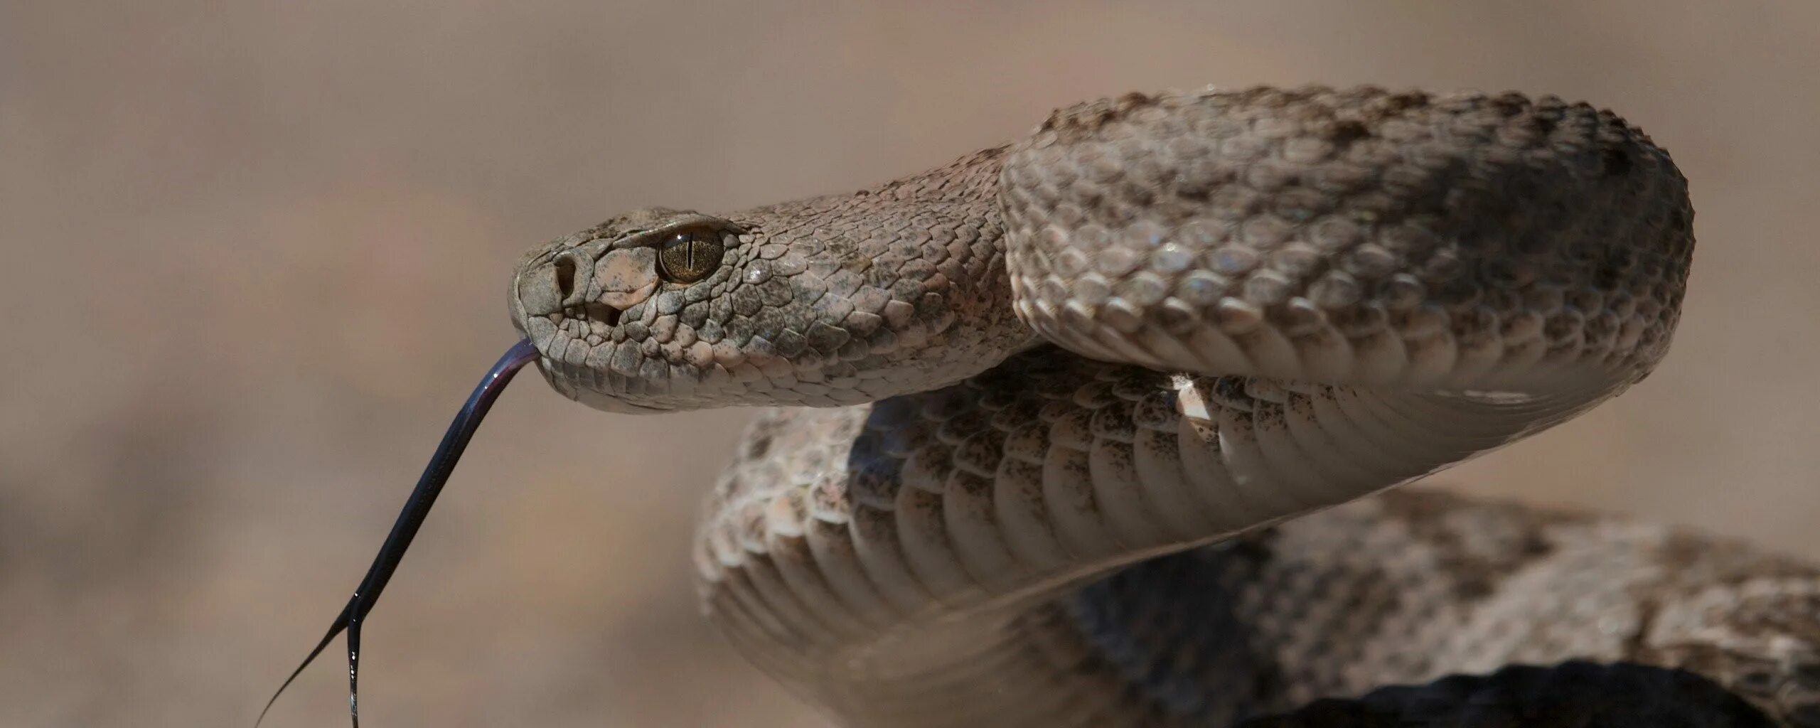
{"label": "scaly head and neck of the snake, tongue excluded", "polygon": [[1001,233],[990,202],[966,200],[639,209],[530,251],[513,326],[557,391],[615,413],[844,406],[954,382],[1030,337],[1005,333]]}

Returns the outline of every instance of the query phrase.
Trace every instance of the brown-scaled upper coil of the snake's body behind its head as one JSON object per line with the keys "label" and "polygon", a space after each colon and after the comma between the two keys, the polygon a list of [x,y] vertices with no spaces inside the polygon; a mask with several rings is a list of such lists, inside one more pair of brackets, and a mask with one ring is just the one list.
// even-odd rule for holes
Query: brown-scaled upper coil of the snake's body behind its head
{"label": "brown-scaled upper coil of the snake's body behind its head", "polygon": [[[1132,144],[1181,126],[1207,136]],[[1012,147],[1005,178],[1019,317],[1083,349],[1114,329],[1165,368],[1256,373],[1283,344],[1243,335],[1269,320],[1309,353],[1299,379],[1352,380],[1334,364],[1345,344],[1387,331],[1434,360],[1389,382],[1520,388],[1536,369],[1500,324],[1518,322],[1522,344],[1540,318],[1554,364],[1640,377],[1667,346],[1693,249],[1667,155],[1558,98],[1128,95],[1057,111]],[[1103,253],[1083,266],[1081,249]],[[1236,348],[1156,351],[1196,320]],[[1329,320],[1378,324],[1329,339]]]}

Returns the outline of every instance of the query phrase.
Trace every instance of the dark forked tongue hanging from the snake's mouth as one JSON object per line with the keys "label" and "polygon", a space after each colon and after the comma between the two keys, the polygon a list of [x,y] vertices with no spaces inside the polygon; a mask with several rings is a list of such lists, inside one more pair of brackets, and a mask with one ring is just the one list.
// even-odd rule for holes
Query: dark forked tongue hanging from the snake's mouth
{"label": "dark forked tongue hanging from the snake's mouth", "polygon": [[399,570],[399,561],[404,561],[404,551],[411,548],[411,539],[417,537],[417,530],[424,524],[424,517],[430,515],[430,506],[435,506],[437,493],[442,491],[442,484],[448,482],[450,471],[455,470],[455,460],[460,460],[462,450],[468,450],[468,440],[473,439],[473,431],[480,428],[480,419],[499,399],[499,393],[506,389],[506,382],[511,382],[511,375],[519,373],[524,364],[537,360],[537,348],[530,340],[521,340],[506,349],[504,357],[486,371],[486,379],[480,386],[473,388],[468,395],[468,404],[462,404],[460,411],[455,413],[455,422],[450,422],[450,431],[442,435],[442,444],[437,446],[435,455],[430,455],[430,466],[424,468],[424,475],[417,479],[417,488],[411,490],[411,499],[404,502],[404,511],[399,513],[399,521],[391,524],[391,533],[386,535],[386,544],[379,548],[379,555],[373,557],[373,566],[368,566],[366,577],[360,579],[360,586],[355,588],[353,597],[348,599],[348,606],[342,613],[335,617],[335,624],[329,624],[329,632],[322,635],[315,650],[309,650],[309,657],[291,670],[291,677],[284,679],[278,692],[271,693],[266,701],[266,708],[258,712],[258,721],[253,723],[255,728],[266,721],[266,712],[271,704],[278,701],[284,688],[291,686],[304,668],[309,666],[324,648],[335,641],[335,635],[348,632],[348,715],[353,719],[355,728],[360,728],[360,621],[366,619],[368,612],[373,612],[373,604],[379,602],[379,593],[386,590],[386,582],[391,581],[391,573]]}

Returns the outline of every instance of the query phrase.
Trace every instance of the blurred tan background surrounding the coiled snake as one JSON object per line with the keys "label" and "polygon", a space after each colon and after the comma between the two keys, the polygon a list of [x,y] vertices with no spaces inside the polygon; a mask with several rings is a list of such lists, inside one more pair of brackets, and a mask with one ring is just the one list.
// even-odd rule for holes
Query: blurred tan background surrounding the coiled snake
{"label": "blurred tan background surrounding the coiled snake", "polygon": [[[522,248],[1259,82],[1654,135],[1698,209],[1676,351],[1447,480],[1820,557],[1815,2],[0,2],[0,724],[249,724],[511,340]],[[521,379],[369,622],[369,724],[815,724],[688,582],[746,417]],[[269,726],[344,724],[324,662]]]}

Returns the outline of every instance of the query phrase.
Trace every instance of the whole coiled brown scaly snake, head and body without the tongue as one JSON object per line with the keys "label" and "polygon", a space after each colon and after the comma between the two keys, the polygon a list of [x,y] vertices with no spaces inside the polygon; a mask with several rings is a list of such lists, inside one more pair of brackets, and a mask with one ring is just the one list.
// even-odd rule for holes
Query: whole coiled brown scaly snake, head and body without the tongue
{"label": "whole coiled brown scaly snake, head and body without the tongue", "polygon": [[1820,571],[1392,486],[1643,380],[1667,153],[1552,96],[1127,95],[521,260],[615,413],[763,406],[706,615],[844,726],[1820,726]]}

